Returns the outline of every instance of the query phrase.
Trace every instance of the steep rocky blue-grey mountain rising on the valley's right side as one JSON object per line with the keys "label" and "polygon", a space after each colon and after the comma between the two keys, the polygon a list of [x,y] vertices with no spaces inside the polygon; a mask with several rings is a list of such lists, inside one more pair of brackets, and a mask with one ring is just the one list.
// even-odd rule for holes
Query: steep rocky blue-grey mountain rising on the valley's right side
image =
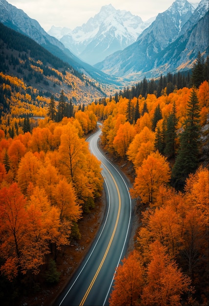
{"label": "steep rocky blue-grey mountain rising on the valley's right side", "polygon": [[[167,71],[176,72],[178,69],[187,68],[187,54],[192,54],[189,58],[189,63],[191,63],[196,59],[198,51],[201,53],[207,51],[208,26],[202,29],[199,25],[197,26],[200,19],[204,17],[203,12],[207,10],[208,1],[206,0],[202,0],[195,10],[187,0],[176,0],[164,13],[158,14],[156,20],[143,31],[136,43],[123,51],[110,55],[95,67],[105,73],[120,75],[132,80],[145,76],[157,77]],[[199,12],[199,17],[197,12]],[[200,31],[202,35],[199,40],[198,38],[195,40],[195,46],[188,44],[189,49],[183,54],[189,39],[192,41],[194,37],[193,27],[196,27],[196,31]],[[182,35],[184,37],[181,41]],[[198,37],[197,32],[195,37]],[[180,41],[181,48],[178,44]],[[169,46],[170,52],[168,52]],[[170,57],[166,54],[169,54]],[[165,61],[162,57],[166,58]],[[169,70],[171,67],[172,70]]]}

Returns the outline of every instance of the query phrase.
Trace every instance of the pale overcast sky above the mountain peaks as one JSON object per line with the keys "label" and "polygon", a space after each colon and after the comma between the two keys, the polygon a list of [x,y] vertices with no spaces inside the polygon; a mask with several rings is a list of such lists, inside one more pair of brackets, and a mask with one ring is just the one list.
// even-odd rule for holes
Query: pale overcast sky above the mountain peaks
{"label": "pale overcast sky above the mountain peaks", "polygon": [[[36,19],[45,31],[52,25],[74,29],[99,13],[103,5],[112,4],[115,9],[130,11],[143,21],[168,9],[174,0],[7,0]],[[189,0],[199,3],[200,0]]]}

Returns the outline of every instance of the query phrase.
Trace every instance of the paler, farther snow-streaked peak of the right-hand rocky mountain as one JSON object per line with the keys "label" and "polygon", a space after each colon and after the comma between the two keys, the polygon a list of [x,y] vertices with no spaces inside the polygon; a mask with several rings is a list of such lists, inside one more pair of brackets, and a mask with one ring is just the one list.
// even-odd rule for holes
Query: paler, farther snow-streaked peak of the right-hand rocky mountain
{"label": "paler, farther snow-streaked peak of the right-hand rocky mountain", "polygon": [[[137,42],[110,55],[95,67],[110,75],[131,78],[137,75],[139,78],[155,67],[157,55],[177,39],[193,12],[194,8],[187,0],[174,1],[139,35]],[[161,74],[159,68],[158,73]]]}

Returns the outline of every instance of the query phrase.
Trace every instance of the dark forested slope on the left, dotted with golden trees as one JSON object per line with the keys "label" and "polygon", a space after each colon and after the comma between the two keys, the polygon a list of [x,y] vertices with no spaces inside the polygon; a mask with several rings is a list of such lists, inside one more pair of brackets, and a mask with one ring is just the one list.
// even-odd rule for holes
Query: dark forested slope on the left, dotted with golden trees
{"label": "dark forested slope on the left, dotted with golden trees", "polygon": [[[21,83],[24,94],[33,92],[34,105],[38,96],[44,100],[53,94],[57,100],[62,90],[74,104],[91,103],[105,96],[98,82],[93,83],[34,40],[0,22],[0,88],[3,83],[9,84],[5,80],[13,85]],[[6,100],[3,91],[2,100]]]}

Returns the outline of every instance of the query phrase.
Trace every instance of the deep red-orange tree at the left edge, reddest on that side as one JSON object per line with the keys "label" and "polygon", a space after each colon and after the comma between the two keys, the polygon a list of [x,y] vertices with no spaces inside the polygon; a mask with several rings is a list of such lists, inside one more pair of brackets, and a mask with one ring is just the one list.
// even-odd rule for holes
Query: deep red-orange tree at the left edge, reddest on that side
{"label": "deep red-orange tree at the left edge, reddest on that side", "polygon": [[11,281],[20,272],[28,228],[26,199],[17,183],[0,189],[0,199],[0,257],[3,261],[0,270]]}

